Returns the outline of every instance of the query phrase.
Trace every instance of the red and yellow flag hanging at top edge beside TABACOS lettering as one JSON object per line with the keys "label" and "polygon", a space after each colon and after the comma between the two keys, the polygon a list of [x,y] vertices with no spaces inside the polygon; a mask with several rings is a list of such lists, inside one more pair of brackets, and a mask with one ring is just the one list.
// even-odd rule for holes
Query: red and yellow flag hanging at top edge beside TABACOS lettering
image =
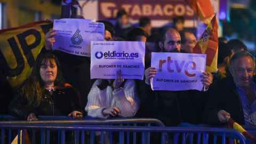
{"label": "red and yellow flag hanging at top edge beside TABACOS lettering", "polygon": [[210,0],[185,0],[198,15],[199,19],[207,26],[214,16]]}

